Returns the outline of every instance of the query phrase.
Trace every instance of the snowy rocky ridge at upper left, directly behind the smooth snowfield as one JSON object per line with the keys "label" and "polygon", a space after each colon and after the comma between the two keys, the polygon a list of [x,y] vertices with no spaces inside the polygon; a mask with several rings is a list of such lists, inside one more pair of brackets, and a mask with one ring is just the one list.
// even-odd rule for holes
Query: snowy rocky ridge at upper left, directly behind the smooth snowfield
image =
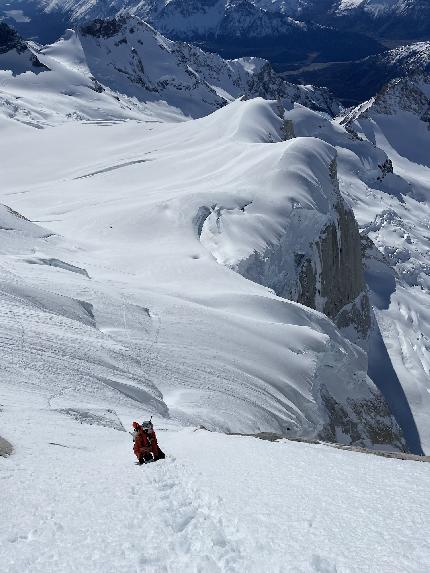
{"label": "snowy rocky ridge at upper left, directly behind the smooth snowfield", "polygon": [[[21,52],[0,54],[0,113],[26,123],[180,121],[208,114],[242,95],[279,99],[288,108],[300,101],[332,115],[339,111],[327,90],[289,84],[265,60],[226,61],[172,42],[139,18],[97,21],[80,34],[69,30],[43,48],[27,46],[8,30]],[[25,71],[46,73],[36,77]]]}

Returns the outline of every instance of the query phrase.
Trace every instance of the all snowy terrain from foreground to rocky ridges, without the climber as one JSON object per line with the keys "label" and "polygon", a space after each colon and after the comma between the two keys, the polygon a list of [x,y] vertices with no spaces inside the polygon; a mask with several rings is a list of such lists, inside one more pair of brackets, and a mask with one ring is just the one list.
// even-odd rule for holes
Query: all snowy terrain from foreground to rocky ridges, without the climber
{"label": "all snowy terrain from foreground to rocky ridges, without the climber", "polygon": [[0,40],[1,567],[429,570],[428,74]]}

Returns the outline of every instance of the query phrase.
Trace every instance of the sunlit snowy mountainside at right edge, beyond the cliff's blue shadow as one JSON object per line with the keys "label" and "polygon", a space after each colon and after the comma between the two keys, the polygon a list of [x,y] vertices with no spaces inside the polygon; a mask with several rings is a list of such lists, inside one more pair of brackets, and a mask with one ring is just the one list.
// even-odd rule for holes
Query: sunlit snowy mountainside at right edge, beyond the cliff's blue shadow
{"label": "sunlit snowy mountainside at right edge, beyond the cliff's blue shadow", "polygon": [[[376,316],[425,448],[430,406],[429,111],[430,76],[424,75],[393,80],[343,120],[359,137],[383,149],[394,172],[410,186],[398,201],[385,202],[364,228],[396,271],[396,291],[389,304],[379,300]],[[381,294],[377,280],[370,286]]]}

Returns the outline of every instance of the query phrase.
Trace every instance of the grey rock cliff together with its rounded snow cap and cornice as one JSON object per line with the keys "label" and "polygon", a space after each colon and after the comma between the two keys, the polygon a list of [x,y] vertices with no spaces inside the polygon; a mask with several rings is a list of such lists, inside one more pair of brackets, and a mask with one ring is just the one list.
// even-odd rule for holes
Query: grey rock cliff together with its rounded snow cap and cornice
{"label": "grey rock cliff together with its rounded snow cap and cornice", "polygon": [[288,206],[280,194],[275,235],[263,195],[239,208],[206,213],[202,243],[218,262],[279,296],[324,312],[366,346],[370,324],[360,236],[339,193],[334,149],[318,140],[306,145],[292,140],[272,171],[289,189]]}

